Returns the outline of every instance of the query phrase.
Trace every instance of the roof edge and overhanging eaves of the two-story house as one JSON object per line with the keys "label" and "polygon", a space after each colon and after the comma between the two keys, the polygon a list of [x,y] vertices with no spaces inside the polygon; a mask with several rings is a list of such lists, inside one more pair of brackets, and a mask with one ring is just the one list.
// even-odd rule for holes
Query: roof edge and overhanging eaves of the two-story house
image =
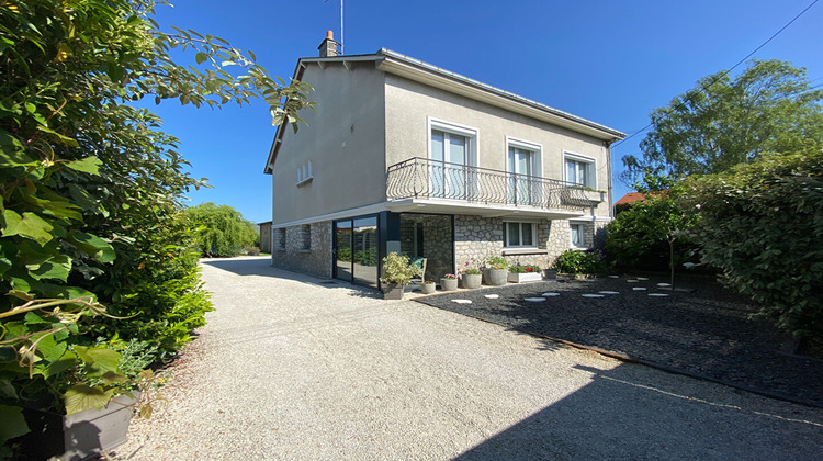
{"label": "roof edge and overhanging eaves of the two-story house", "polygon": [[[301,58],[297,61],[297,67],[294,70],[293,78],[295,80],[301,80],[304,69],[312,64],[316,64],[320,68],[324,68],[330,63],[341,63],[343,66],[349,66],[357,61],[374,61],[377,70],[397,75],[409,80],[419,81],[466,98],[480,100],[532,119],[560,125],[602,139],[608,144],[625,137],[625,133],[610,128],[606,125],[570,114],[568,112],[563,112],[540,102],[532,101],[509,91],[501,90],[491,85],[483,83],[386,48],[381,48],[372,55],[341,55],[332,57]],[[266,173],[271,173],[272,171],[285,127],[285,122],[278,126],[278,132],[274,135],[274,140],[269,150],[266,169],[263,170]]]}

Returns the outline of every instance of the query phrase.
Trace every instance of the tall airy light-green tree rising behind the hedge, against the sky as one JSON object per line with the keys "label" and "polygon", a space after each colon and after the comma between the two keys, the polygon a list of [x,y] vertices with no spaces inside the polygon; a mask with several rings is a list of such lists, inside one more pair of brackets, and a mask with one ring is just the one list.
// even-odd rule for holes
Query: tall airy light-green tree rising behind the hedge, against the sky
{"label": "tall airy light-green tree rising behind the hedge, against the sky", "polygon": [[623,157],[622,178],[657,191],[766,151],[797,151],[823,139],[821,101],[823,90],[812,88],[804,69],[779,60],[753,60],[734,79],[704,77],[652,112],[642,157]]}

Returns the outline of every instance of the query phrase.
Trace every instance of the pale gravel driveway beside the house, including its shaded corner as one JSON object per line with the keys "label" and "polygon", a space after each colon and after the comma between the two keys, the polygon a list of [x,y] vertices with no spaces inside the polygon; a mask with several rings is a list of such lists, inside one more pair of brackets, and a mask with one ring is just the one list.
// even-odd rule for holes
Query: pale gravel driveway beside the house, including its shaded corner
{"label": "pale gravel driveway beside the house, including its shaded corner", "polygon": [[822,409],[268,263],[204,261],[216,311],[116,458],[823,457]]}

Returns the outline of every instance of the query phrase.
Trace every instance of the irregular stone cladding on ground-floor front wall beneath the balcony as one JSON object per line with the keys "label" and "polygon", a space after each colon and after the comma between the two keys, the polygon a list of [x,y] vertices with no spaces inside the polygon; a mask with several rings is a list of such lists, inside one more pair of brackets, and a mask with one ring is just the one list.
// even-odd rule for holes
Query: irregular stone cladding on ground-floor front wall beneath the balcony
{"label": "irregular stone cladding on ground-floor front wall beneath the balcony", "polygon": [[[608,223],[597,223],[598,235],[594,236],[593,224],[586,224],[586,246],[601,244],[604,227]],[[485,260],[493,255],[501,255],[504,249],[504,220],[471,215],[454,216],[454,256],[458,271],[465,268],[472,258]],[[535,265],[549,268],[554,259],[571,248],[567,220],[541,220],[537,229],[538,250],[533,254],[504,255],[510,265]]]}

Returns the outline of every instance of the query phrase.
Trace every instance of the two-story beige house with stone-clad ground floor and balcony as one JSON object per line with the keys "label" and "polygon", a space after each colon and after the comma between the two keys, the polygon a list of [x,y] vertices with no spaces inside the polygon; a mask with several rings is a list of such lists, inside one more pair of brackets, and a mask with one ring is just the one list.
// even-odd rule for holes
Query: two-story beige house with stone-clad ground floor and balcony
{"label": "two-story beige house with stone-clad ground floor and balcony", "polygon": [[272,265],[379,286],[391,251],[427,279],[472,258],[549,267],[611,220],[611,143],[623,133],[388,49],[302,58],[317,111],[280,126]]}

